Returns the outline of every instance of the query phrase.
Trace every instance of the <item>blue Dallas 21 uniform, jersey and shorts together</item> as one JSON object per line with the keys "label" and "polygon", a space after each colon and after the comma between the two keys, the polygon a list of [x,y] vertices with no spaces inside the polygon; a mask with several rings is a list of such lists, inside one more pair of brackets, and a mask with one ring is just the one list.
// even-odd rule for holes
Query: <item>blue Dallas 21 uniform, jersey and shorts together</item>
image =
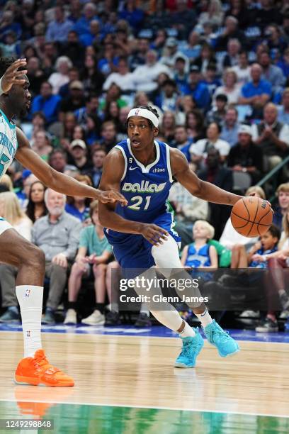
{"label": "blue Dallas 21 uniform, jersey and shorts together", "polygon": [[[118,204],[115,212],[127,220],[154,223],[180,243],[181,238],[174,230],[174,211],[167,201],[173,182],[169,146],[158,140],[154,140],[154,145],[156,159],[146,167],[132,154],[129,139],[115,146],[123,153],[125,160],[120,192],[128,200],[128,206]],[[106,228],[104,233],[121,267],[149,268],[154,265],[152,244],[142,235]]]}

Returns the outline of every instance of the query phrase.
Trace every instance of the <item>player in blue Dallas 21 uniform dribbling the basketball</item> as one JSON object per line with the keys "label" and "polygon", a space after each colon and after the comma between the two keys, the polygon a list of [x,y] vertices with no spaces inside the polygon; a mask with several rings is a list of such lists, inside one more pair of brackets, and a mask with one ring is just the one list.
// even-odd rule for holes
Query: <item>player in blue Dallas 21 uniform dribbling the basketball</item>
{"label": "player in blue Dallas 21 uniform dribbling the basketball", "polygon": [[[100,189],[121,191],[128,206],[101,204],[101,224],[106,227],[106,237],[123,269],[150,269],[156,265],[162,272],[181,269],[180,238],[174,231],[173,214],[166,204],[173,178],[194,196],[216,204],[233,206],[241,196],[201,181],[179,150],[155,140],[159,119],[157,111],[150,106],[132,109],[127,122],[128,140],[118,143],[107,155]],[[150,311],[182,338],[183,348],[175,367],[194,367],[203,347],[198,329],[183,321],[172,306],[165,306],[162,311],[150,308]],[[212,320],[204,304],[193,308],[193,312],[220,356],[226,357],[239,350],[237,342]]]}

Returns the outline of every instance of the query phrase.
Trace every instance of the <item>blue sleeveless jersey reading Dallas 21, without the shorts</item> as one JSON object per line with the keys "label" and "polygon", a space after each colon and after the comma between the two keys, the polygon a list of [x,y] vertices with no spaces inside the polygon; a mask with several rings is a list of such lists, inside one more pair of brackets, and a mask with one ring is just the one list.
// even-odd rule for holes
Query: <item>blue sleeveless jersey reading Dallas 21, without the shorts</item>
{"label": "blue sleeveless jersey reading Dallas 21, without the shorts", "polygon": [[115,212],[128,220],[152,223],[160,215],[168,213],[172,221],[171,209],[166,203],[173,182],[169,146],[157,140],[154,145],[156,159],[146,167],[132,154],[129,139],[115,146],[125,159],[120,192],[128,199],[128,206],[118,204]]}

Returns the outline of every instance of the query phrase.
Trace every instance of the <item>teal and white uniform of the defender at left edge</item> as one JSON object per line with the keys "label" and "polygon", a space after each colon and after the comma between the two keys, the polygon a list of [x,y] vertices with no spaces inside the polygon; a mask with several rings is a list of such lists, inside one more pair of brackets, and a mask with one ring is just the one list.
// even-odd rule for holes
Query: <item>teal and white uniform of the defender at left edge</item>
{"label": "teal and white uniform of the defender at left edge", "polygon": [[[0,110],[0,179],[12,164],[17,147],[16,125]],[[0,235],[9,228],[11,224],[0,217]]]}

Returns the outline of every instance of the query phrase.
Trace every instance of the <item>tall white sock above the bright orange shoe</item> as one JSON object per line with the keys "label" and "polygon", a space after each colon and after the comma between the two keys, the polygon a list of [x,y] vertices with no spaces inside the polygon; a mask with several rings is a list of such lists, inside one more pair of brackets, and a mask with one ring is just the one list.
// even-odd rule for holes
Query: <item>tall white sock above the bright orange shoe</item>
{"label": "tall white sock above the bright orange shoe", "polygon": [[41,344],[41,314],[43,287],[33,285],[16,286],[16,296],[21,310],[24,357],[33,357]]}

